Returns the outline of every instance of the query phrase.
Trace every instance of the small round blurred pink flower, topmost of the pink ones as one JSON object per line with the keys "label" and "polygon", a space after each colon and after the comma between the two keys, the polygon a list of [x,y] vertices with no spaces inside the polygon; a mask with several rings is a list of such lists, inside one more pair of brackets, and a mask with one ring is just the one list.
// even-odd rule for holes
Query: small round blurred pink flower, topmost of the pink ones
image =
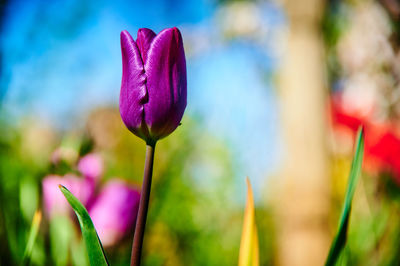
{"label": "small round blurred pink flower, topmost of the pink ones", "polygon": [[95,153],[89,153],[79,160],[78,170],[86,178],[97,181],[103,174],[103,159]]}

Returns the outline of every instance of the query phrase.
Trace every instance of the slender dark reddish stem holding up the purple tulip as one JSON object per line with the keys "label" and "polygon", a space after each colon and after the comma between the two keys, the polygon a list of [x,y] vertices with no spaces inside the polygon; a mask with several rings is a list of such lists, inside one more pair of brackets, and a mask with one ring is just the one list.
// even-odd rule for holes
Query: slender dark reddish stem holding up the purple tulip
{"label": "slender dark reddish stem holding up the purple tulip", "polygon": [[146,227],[147,209],[149,206],[151,178],[153,175],[153,161],[155,143],[146,146],[146,161],[144,164],[142,192],[140,194],[139,211],[136,219],[135,235],[133,237],[131,266],[139,266],[142,254],[144,230]]}

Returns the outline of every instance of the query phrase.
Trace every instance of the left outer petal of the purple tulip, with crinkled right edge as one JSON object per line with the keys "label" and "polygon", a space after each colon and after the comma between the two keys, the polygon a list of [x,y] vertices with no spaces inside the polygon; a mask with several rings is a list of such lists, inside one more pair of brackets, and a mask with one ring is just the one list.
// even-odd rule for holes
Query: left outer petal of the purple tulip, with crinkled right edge
{"label": "left outer petal of the purple tulip, with crinkled right edge", "polygon": [[147,102],[146,75],[139,49],[127,31],[121,32],[122,84],[119,111],[126,127],[139,137],[146,138],[143,123],[144,103]]}

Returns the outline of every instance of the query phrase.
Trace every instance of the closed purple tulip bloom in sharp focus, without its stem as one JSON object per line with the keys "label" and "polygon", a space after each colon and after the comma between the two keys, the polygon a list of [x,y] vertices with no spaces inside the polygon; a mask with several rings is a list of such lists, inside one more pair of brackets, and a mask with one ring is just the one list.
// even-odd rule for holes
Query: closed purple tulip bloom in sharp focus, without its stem
{"label": "closed purple tulip bloom in sharp focus, without its stem", "polygon": [[186,108],[186,60],[177,28],[156,35],[139,29],[136,42],[121,32],[119,107],[126,127],[148,143],[171,134]]}

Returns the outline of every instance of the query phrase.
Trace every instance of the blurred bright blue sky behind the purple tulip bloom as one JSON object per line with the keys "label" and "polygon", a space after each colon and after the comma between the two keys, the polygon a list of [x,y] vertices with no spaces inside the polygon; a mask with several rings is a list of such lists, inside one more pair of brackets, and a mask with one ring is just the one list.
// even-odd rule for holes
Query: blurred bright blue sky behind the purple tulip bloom
{"label": "blurred bright blue sky behind the purple tulip bloom", "polygon": [[[261,7],[271,27],[283,23],[279,8]],[[0,37],[3,105],[17,118],[30,113],[68,128],[96,106],[117,105],[121,30],[178,26],[184,41],[185,31],[203,30],[211,48],[188,54],[186,114],[207,118],[201,123],[229,145],[237,174],[260,184],[280,158],[278,103],[265,78],[276,60],[250,41],[224,40],[213,24],[218,8],[210,0],[12,1]]]}

